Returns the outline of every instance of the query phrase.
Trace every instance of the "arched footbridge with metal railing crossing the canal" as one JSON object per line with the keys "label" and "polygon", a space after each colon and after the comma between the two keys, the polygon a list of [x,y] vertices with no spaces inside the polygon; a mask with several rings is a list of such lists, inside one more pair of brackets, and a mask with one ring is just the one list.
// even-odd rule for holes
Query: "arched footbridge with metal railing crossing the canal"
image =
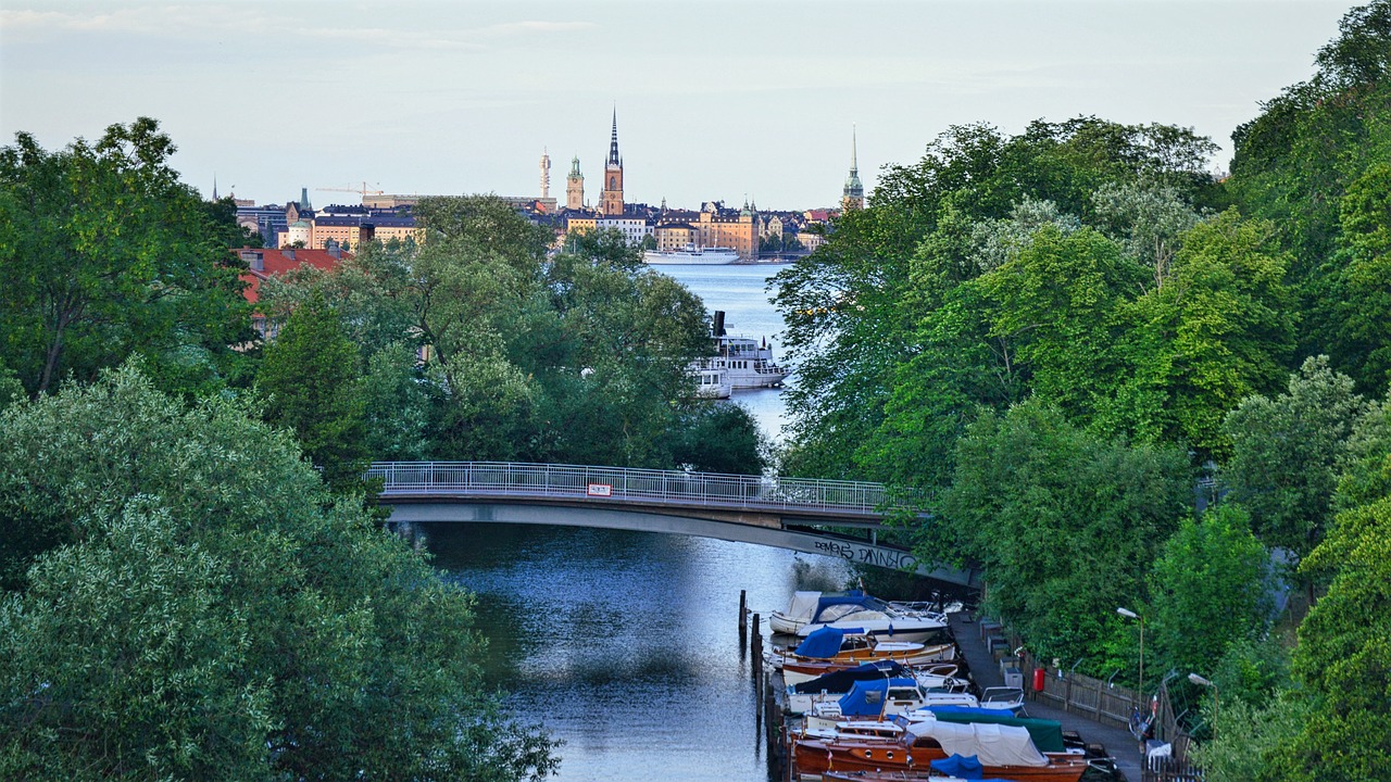
{"label": "arched footbridge with metal railing crossing the canal", "polygon": [[976,573],[919,564],[879,543],[883,484],[515,462],[376,462],[396,526],[556,525],[712,537],[840,557],[976,586]]}

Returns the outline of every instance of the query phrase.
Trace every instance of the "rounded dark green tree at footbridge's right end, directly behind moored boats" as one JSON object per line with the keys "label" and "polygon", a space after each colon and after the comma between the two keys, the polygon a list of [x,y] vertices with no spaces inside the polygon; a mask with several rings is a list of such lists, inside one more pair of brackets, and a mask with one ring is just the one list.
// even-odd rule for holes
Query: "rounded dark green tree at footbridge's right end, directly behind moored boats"
{"label": "rounded dark green tree at footbridge's right end, directly behind moored boats", "polygon": [[1106,441],[1040,402],[985,415],[961,438],[919,558],[979,562],[988,603],[1042,657],[1100,658],[1117,605],[1182,513],[1182,452]]}

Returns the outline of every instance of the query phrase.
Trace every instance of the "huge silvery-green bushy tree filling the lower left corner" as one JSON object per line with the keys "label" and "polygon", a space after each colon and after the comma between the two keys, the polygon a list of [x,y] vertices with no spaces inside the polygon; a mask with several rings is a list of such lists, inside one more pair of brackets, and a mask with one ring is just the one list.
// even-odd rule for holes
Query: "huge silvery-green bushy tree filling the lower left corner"
{"label": "huge silvery-green bushy tree filling the lower left corner", "polygon": [[[40,530],[46,534],[25,534]],[[0,415],[0,776],[537,779],[469,597],[284,430],[134,367]]]}

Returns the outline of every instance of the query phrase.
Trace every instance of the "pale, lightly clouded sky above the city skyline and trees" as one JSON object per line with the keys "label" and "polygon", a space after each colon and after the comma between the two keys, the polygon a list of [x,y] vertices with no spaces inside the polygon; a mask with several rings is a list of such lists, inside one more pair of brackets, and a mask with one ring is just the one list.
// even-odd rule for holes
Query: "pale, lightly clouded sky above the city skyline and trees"
{"label": "pale, lightly clouded sky above the city skyline and trees", "polygon": [[160,121],[209,195],[598,202],[613,111],[629,202],[832,206],[950,125],[1096,115],[1231,132],[1312,74],[1330,0],[0,0],[0,142]]}

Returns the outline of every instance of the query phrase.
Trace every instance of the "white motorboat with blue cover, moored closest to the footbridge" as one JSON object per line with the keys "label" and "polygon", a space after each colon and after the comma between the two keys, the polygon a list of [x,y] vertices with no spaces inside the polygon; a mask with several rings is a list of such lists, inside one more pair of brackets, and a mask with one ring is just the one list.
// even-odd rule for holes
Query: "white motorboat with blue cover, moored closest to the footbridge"
{"label": "white motorboat with blue cover, moored closest to the footbridge", "polygon": [[896,641],[933,644],[950,640],[944,614],[894,607],[858,590],[840,594],[793,593],[787,611],[773,611],[769,626],[775,633],[801,637],[818,628],[858,628]]}

